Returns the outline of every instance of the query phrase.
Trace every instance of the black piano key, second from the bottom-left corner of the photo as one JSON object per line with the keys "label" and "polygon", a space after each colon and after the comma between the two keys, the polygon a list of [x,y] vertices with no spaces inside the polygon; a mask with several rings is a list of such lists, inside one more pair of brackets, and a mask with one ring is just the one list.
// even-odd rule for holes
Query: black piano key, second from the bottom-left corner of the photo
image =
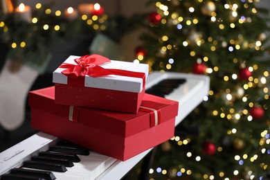
{"label": "black piano key, second from the bottom-left corner of the photo", "polygon": [[28,170],[28,169],[21,169],[21,168],[13,168],[10,170],[10,174],[21,174],[21,175],[28,175],[32,177],[40,177],[44,179],[53,180],[55,176],[52,172],[49,171],[41,171],[41,170]]}

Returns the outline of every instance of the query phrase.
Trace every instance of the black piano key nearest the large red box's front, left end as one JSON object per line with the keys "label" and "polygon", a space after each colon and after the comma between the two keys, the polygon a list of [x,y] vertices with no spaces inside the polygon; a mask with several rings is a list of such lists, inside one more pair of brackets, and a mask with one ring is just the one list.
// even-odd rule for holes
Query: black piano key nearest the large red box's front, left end
{"label": "black piano key nearest the large red box's front, left end", "polygon": [[73,153],[73,154],[80,154],[84,156],[89,155],[89,150],[80,148],[80,147],[68,147],[63,145],[52,145],[50,146],[50,151],[53,152],[64,152],[64,153]]}

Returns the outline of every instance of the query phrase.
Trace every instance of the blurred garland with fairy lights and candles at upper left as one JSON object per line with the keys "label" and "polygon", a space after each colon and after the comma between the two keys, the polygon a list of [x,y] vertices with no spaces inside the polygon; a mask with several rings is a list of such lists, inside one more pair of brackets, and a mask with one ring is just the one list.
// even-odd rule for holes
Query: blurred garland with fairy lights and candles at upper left
{"label": "blurred garland with fairy lights and candles at upper left", "polygon": [[[108,16],[99,3],[83,3],[78,8],[69,7],[66,10],[53,10],[51,6],[36,3],[30,7],[20,3],[17,7],[9,8],[8,12],[0,10],[0,39],[8,47],[10,59],[35,63],[44,56],[44,62],[53,46],[48,42],[107,29]],[[37,48],[39,51],[36,51]],[[29,52],[32,52],[31,55]]]}

